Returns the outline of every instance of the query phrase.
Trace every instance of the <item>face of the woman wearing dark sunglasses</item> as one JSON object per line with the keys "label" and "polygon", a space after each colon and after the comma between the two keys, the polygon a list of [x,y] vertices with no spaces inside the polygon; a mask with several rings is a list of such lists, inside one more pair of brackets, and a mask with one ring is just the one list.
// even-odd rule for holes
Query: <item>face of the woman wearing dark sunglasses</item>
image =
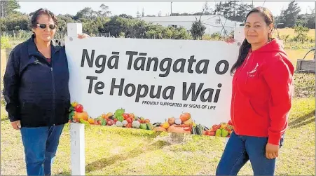
{"label": "face of the woman wearing dark sunglasses", "polygon": [[[50,29],[50,27],[53,27],[53,29]],[[51,41],[56,32],[56,26],[53,19],[49,18],[48,15],[39,15],[39,18],[37,19],[37,27],[34,27],[33,32],[35,33],[36,38],[43,41]]]}

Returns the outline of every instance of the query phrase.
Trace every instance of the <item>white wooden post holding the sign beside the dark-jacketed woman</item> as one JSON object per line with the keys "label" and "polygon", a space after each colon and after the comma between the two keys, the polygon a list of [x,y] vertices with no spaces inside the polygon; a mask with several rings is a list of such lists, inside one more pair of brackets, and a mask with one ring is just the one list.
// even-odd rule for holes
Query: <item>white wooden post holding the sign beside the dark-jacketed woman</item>
{"label": "white wooden post holding the sign beside the dark-jacketed woman", "polygon": [[[82,33],[81,23],[67,24],[67,37],[77,37]],[[85,125],[70,124],[71,175],[85,175]]]}

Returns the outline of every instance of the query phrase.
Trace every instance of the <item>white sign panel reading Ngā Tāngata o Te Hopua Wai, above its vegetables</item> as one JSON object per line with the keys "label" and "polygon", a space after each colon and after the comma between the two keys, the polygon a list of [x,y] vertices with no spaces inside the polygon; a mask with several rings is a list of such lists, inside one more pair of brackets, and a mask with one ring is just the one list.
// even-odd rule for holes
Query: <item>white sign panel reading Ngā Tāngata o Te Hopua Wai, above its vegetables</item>
{"label": "white sign panel reading Ng\u0101 T\u0101ngata o Te Hopua Wai, above its vegetables", "polygon": [[68,36],[66,52],[71,102],[92,118],[123,108],[151,123],[183,112],[207,127],[230,119],[235,43]]}

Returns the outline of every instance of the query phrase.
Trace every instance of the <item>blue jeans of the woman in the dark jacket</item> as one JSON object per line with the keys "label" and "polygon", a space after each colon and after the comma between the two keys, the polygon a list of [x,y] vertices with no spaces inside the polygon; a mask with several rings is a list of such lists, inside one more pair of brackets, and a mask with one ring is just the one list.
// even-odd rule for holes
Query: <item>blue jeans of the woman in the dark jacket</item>
{"label": "blue jeans of the woman in the dark jacket", "polygon": [[64,125],[21,128],[27,175],[51,175],[50,168],[63,128]]}

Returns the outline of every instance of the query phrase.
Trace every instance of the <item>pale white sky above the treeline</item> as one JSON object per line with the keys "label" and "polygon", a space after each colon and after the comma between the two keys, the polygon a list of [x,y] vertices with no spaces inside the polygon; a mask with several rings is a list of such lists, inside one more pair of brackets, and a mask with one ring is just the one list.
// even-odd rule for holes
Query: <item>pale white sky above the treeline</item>
{"label": "pale white sky above the treeline", "polygon": [[[214,8],[215,2],[219,1],[207,1],[210,8]],[[301,7],[301,13],[311,13],[311,10],[315,10],[315,1],[297,1],[298,6]],[[254,6],[264,6],[269,8],[273,15],[280,15],[282,9],[286,9],[289,1],[243,1],[243,3],[254,4]],[[127,15],[136,16],[137,11],[142,14],[144,8],[145,15],[158,15],[160,12],[162,16],[170,14],[171,1],[46,1],[46,0],[19,0],[21,6],[20,12],[31,13],[39,8],[48,8],[50,11],[58,14],[71,14],[76,13],[85,7],[90,7],[94,11],[99,11],[99,6],[104,4],[109,6],[109,11],[112,15],[120,15],[125,13]],[[202,11],[202,6],[205,1],[172,1],[172,13],[196,13]]]}

